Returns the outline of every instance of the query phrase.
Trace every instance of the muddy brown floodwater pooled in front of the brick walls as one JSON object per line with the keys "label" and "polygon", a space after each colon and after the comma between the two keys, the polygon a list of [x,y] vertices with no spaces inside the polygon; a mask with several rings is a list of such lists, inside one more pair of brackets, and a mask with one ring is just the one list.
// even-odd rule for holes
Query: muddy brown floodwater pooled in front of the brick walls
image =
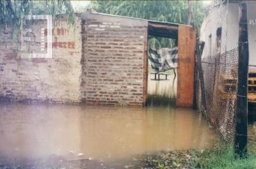
{"label": "muddy brown floodwater pooled in front of the brick walls", "polygon": [[194,110],[28,103],[0,103],[0,135],[0,159],[56,155],[99,161],[204,149],[218,138]]}

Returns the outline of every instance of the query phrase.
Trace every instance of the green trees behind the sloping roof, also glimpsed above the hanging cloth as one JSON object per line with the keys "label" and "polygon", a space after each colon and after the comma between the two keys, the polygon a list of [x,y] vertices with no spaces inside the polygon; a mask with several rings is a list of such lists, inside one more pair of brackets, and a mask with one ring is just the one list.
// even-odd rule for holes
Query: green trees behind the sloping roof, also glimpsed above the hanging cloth
{"label": "green trees behind the sloping roof, also glimpsed above the hanging cloth", "polygon": [[[144,18],[186,24],[188,18],[187,1],[92,1],[90,8],[100,12],[127,17]],[[204,4],[202,1],[192,1],[191,24],[199,30],[204,19]],[[196,23],[196,24],[195,24]],[[175,41],[168,38],[149,37],[150,47],[173,47]]]}

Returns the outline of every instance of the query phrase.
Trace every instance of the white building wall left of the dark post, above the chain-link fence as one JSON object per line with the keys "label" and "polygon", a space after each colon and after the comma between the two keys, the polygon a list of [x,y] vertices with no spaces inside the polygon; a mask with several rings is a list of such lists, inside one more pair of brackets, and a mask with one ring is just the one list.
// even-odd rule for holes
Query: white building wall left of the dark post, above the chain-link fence
{"label": "white building wall left of the dark post, above the chain-link fence", "polygon": [[[205,48],[202,57],[206,57],[210,54],[216,55],[218,52],[225,52],[225,49],[232,50],[237,47],[239,31],[238,5],[230,3],[228,7],[228,15],[225,15],[226,8],[227,6],[223,6],[222,8],[216,7],[205,15],[204,22],[200,30],[200,40],[205,41]],[[227,18],[225,18],[225,16]],[[217,48],[216,31],[218,27],[222,27],[220,49]],[[211,36],[211,47],[209,47],[209,36]]]}

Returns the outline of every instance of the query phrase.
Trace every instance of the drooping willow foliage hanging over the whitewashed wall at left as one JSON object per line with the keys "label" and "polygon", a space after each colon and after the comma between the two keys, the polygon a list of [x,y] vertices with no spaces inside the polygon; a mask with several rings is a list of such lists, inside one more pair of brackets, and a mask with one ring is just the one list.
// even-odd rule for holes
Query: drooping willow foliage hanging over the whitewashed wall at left
{"label": "drooping willow foliage hanging over the whitewashed wall at left", "polygon": [[21,29],[22,18],[26,15],[53,15],[64,13],[69,24],[74,24],[74,10],[70,1],[0,1],[0,36],[6,26],[11,27],[12,36],[17,37]]}

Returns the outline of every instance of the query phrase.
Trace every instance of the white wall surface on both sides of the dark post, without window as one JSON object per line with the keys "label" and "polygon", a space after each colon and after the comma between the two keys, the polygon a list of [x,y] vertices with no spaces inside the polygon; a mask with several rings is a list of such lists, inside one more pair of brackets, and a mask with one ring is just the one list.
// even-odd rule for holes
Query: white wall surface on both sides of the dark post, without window
{"label": "white wall surface on both sides of the dark post, without window", "polygon": [[[208,15],[205,15],[204,22],[200,30],[200,40],[205,41],[205,48],[202,57],[207,55],[215,55],[218,52],[216,44],[216,30],[218,27],[222,27],[221,35],[221,53],[225,52],[223,50],[223,45],[225,45],[226,50],[232,50],[238,47],[239,38],[239,6],[237,3],[230,3],[228,6],[228,19],[227,24],[221,22],[220,16],[224,16],[226,8],[222,8],[222,15],[220,15],[220,8],[214,8],[209,11]],[[256,65],[256,2],[249,2],[247,5],[248,10],[248,42],[249,42],[249,64]],[[224,18],[224,17],[222,17]],[[254,20],[254,25],[250,20]],[[227,32],[227,38],[225,38],[225,32]],[[209,36],[212,35],[211,39],[211,52],[209,51]],[[227,39],[227,42],[226,42]]]}

